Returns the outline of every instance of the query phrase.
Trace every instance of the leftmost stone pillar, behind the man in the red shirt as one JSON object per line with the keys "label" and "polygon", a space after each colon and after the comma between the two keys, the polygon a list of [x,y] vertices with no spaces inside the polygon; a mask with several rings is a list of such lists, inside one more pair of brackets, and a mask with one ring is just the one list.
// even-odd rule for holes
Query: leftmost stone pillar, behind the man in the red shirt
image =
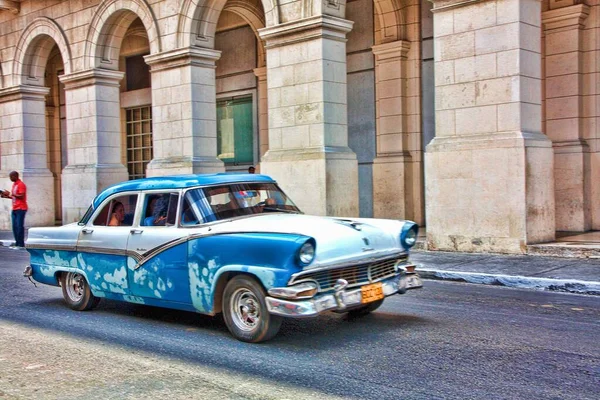
{"label": "leftmost stone pillar, behind the man in the red shirt", "polygon": [[[27,185],[26,226],[54,225],[54,182],[48,169],[46,100],[50,89],[16,86],[0,89],[0,188],[10,190],[10,171]],[[11,228],[12,202],[0,199],[0,228]]]}

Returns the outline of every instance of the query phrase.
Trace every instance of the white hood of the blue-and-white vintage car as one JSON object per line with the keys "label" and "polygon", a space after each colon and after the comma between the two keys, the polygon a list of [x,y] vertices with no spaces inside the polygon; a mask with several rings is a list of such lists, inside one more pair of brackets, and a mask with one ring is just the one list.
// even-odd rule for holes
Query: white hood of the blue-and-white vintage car
{"label": "white hood of the blue-and-white vintage car", "polygon": [[372,218],[332,218],[269,213],[213,225],[215,233],[269,232],[310,236],[316,255],[307,269],[361,262],[404,251],[400,232],[404,221]]}

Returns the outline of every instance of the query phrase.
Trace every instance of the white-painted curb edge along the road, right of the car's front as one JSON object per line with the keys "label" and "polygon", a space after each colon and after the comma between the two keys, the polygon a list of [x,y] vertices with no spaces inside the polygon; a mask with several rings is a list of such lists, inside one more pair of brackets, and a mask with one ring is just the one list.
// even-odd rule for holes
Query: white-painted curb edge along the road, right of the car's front
{"label": "white-painted curb edge along the road, right of the car's front", "polygon": [[418,273],[423,279],[450,280],[482,285],[507,286],[521,289],[600,296],[600,282],[579,281],[573,279],[532,278],[527,276],[484,274],[480,272],[443,271],[432,269],[419,269]]}

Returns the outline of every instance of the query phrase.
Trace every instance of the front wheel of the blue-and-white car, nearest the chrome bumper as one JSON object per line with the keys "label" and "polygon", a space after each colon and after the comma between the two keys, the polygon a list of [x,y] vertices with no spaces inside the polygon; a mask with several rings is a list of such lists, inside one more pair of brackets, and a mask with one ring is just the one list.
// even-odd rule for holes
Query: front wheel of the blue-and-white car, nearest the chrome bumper
{"label": "front wheel of the blue-and-white car, nearest the chrome bumper", "polygon": [[277,334],[282,318],[269,314],[265,297],[263,287],[248,276],[238,275],[227,283],[223,292],[223,319],[237,339],[258,343]]}

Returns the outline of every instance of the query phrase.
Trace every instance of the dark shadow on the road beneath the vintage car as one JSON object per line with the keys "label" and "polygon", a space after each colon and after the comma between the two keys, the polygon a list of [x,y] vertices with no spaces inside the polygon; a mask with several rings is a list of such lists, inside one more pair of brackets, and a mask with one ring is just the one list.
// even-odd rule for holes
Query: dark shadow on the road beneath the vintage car
{"label": "dark shadow on the road beneath the vintage car", "polygon": [[[227,330],[222,315],[209,316],[189,311],[165,309],[148,305],[124,303],[103,299],[91,312],[76,312],[68,309],[61,298],[45,299],[26,303],[31,309],[40,307],[60,314],[69,313],[68,318],[86,320],[89,327],[103,324],[106,320],[119,317],[123,328],[138,329],[142,324],[152,325],[152,329],[162,328],[176,331],[201,332],[211,336],[220,336],[235,340]],[[166,323],[168,325],[161,325]],[[427,328],[433,324],[429,319],[411,314],[391,313],[377,310],[362,317],[351,317],[347,313],[326,312],[314,318],[285,318],[277,336],[264,345],[293,344],[295,347],[323,349],[332,348],[340,343],[362,342],[365,337],[374,340],[386,336],[389,332],[400,334]],[[41,328],[47,328],[40,326]],[[172,334],[172,333],[171,333]]]}

